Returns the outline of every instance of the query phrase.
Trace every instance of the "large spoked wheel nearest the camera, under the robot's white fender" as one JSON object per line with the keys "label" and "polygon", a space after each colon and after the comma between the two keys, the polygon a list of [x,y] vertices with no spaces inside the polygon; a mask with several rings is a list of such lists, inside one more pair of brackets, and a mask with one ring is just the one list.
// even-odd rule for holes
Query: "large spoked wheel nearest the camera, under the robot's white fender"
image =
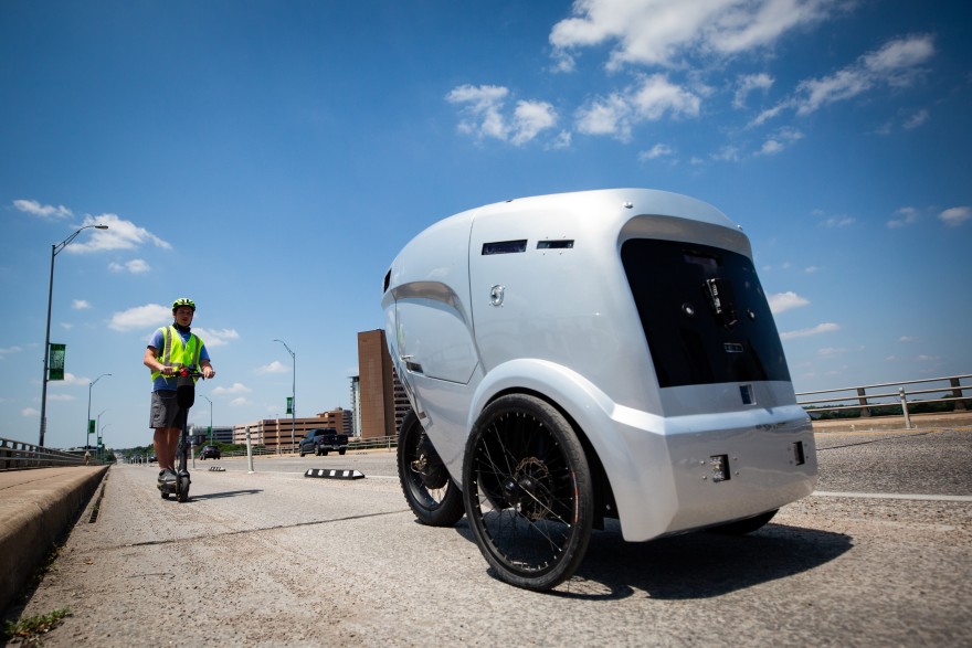
{"label": "large spoked wheel nearest the camera, under the robot's white fender", "polygon": [[479,551],[527,589],[570,578],[591,539],[593,487],[573,427],[548,403],[501,396],[466,443],[463,500]]}

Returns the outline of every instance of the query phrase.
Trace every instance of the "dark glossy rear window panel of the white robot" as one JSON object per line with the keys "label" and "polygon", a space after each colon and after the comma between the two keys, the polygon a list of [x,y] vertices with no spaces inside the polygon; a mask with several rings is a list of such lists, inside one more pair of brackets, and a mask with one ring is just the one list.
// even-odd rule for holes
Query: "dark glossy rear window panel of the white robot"
{"label": "dark glossy rear window panel of the white robot", "polygon": [[632,238],[621,261],[662,387],[790,381],[770,307],[744,255]]}

